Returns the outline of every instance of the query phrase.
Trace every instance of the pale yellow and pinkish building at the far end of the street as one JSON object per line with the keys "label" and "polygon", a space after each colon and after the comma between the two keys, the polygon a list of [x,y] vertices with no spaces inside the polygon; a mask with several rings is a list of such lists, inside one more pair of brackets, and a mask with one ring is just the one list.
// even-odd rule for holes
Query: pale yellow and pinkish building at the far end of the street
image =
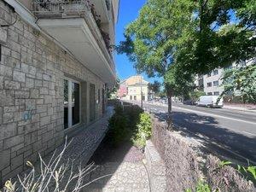
{"label": "pale yellow and pinkish building at the far end of the street", "polygon": [[135,75],[122,81],[119,85],[119,98],[130,101],[148,101],[148,84],[143,76]]}

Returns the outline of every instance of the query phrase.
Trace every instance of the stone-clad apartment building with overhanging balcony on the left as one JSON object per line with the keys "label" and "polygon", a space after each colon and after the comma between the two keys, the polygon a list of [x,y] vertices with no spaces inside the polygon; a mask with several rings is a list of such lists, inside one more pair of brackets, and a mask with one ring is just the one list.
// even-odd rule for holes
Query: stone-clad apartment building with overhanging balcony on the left
{"label": "stone-clad apartment building with overhanging balcony on the left", "polygon": [[119,0],[0,0],[0,185],[102,117],[118,12]]}

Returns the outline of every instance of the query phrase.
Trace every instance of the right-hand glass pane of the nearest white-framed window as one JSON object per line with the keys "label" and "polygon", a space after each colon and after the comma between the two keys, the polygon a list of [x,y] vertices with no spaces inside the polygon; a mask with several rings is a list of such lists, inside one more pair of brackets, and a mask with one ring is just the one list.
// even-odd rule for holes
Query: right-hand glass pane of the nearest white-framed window
{"label": "right-hand glass pane of the nearest white-framed window", "polygon": [[72,125],[80,122],[80,89],[79,84],[72,83]]}

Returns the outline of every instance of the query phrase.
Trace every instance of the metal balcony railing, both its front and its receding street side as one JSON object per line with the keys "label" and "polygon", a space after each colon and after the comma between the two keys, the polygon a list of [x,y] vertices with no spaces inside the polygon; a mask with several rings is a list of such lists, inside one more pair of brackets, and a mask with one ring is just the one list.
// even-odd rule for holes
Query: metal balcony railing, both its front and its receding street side
{"label": "metal balcony railing, both its front and its receding street side", "polygon": [[[84,17],[91,15],[98,35],[101,36],[108,49],[108,56],[112,60],[110,38],[108,32],[104,32],[101,28],[100,15],[96,14],[94,5],[89,0],[35,0],[33,2],[33,13],[38,18],[70,18]],[[103,51],[105,52],[105,51]]]}

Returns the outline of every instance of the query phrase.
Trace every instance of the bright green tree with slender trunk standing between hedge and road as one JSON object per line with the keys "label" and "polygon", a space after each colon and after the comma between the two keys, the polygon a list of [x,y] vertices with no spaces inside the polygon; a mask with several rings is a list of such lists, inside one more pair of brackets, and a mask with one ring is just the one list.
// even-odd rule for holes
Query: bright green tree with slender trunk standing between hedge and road
{"label": "bright green tree with slender trunk standing between hedge and road", "polygon": [[183,93],[193,82],[191,73],[184,72],[173,55],[182,37],[180,32],[189,30],[190,18],[187,15],[191,13],[194,3],[184,0],[174,2],[149,0],[137,20],[126,28],[125,42],[117,47],[119,53],[125,53],[135,63],[138,72],[164,79],[169,119],[172,96]]}

